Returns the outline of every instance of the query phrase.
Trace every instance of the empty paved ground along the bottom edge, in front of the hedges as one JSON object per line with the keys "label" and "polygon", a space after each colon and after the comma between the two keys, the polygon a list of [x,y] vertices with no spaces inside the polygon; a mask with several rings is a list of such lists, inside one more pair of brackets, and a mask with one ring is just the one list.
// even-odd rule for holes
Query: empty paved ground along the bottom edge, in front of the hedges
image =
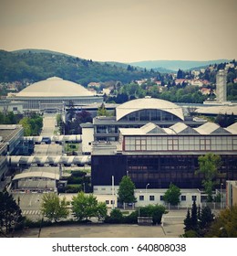
{"label": "empty paved ground along the bottom edge, in front of the hedges", "polygon": [[[183,224],[159,226],[138,225],[68,225],[42,228],[40,238],[178,238],[183,233]],[[15,237],[37,238],[39,229],[26,229]]]}

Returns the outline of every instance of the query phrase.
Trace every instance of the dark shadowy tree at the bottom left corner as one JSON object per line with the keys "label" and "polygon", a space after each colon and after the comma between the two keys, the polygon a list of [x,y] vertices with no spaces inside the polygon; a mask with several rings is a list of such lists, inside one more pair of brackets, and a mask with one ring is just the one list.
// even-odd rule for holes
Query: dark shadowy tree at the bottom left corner
{"label": "dark shadowy tree at the bottom left corner", "polygon": [[9,233],[22,220],[21,209],[7,191],[0,192],[0,227],[2,233]]}

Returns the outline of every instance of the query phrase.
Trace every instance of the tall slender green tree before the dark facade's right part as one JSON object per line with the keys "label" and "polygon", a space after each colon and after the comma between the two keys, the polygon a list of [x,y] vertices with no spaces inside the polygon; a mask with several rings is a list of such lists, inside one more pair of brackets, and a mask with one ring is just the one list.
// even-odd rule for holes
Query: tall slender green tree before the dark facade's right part
{"label": "tall slender green tree before the dark facade's right part", "polygon": [[199,157],[199,170],[197,174],[202,174],[202,186],[204,187],[205,193],[208,195],[208,201],[212,201],[212,190],[215,185],[215,178],[219,174],[219,168],[222,164],[220,155],[201,155]]}

